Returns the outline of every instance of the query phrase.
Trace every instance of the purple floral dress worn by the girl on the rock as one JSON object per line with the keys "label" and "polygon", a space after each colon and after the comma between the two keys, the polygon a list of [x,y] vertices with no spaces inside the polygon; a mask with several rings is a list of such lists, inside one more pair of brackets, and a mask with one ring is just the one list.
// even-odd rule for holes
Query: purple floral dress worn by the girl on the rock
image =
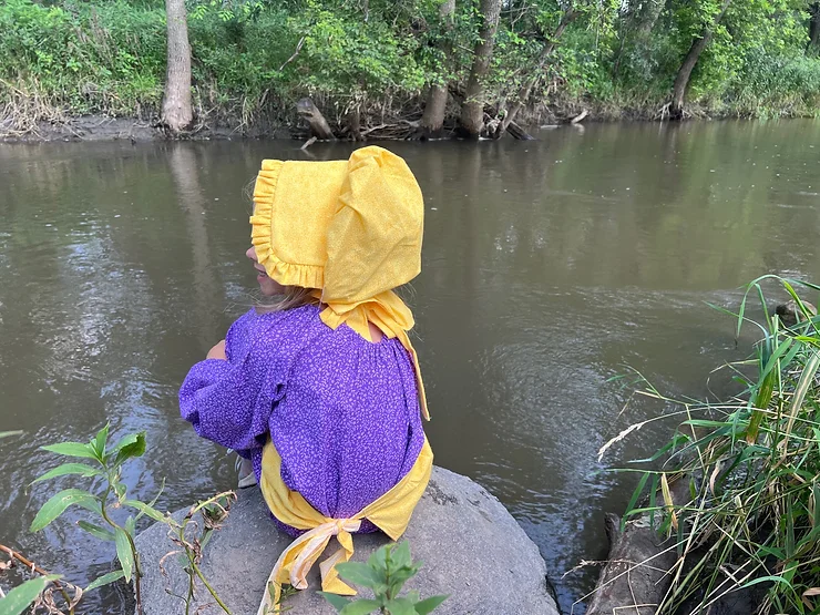
{"label": "purple floral dress worn by the girl on the rock", "polygon": [[345,519],[416,462],[424,432],[416,371],[399,340],[330,329],[318,306],[250,310],[228,330],[225,355],[191,369],[180,409],[199,435],[252,459],[257,480],[270,438],[285,484],[325,516]]}

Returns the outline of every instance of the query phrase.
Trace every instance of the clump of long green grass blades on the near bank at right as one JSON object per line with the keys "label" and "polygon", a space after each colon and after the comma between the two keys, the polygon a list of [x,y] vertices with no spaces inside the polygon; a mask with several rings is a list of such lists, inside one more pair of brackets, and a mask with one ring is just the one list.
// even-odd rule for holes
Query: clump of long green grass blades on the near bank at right
{"label": "clump of long green grass blades on the near bank at right", "polygon": [[[763,285],[771,281],[791,297],[796,325],[769,316]],[[740,590],[760,594],[760,615],[820,612],[820,317],[800,299],[800,287],[820,291],[776,276],[749,285],[735,315],[737,331],[752,324],[761,338],[752,358],[728,366],[742,388],[734,398],[670,400],[648,385],[638,391],[677,404],[685,419],[668,443],[640,461],[665,460],[659,470],[640,470],[626,515],[652,513],[677,547],[659,614],[706,613]],[[752,297],[762,322],[747,317]],[[674,476],[688,481],[687,502],[669,495]],[[644,493],[648,505],[638,504]]]}

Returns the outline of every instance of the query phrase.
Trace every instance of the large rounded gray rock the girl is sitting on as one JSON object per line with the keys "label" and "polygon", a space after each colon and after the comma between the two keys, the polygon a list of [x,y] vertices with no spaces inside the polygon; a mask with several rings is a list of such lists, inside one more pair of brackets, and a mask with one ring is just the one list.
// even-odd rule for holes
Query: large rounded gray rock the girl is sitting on
{"label": "large rounded gray rock the girl is sitting on", "polygon": [[[450,594],[437,615],[558,614],[547,593],[546,565],[537,547],[506,509],[468,478],[435,468],[404,537],[410,541],[413,560],[423,562],[406,587],[418,590],[422,597]],[[383,534],[355,535],[353,561],[366,561],[387,542]],[[206,545],[202,571],[235,615],[255,615],[270,570],[289,543],[269,520],[259,490],[243,490],[228,519]],[[175,550],[167,529],[153,525],[137,536],[136,544],[145,571],[145,615],[184,613],[183,602],[171,594],[185,595],[187,577],[174,556],[164,562],[167,576],[158,565]],[[325,556],[332,551],[331,542]],[[288,613],[336,613],[316,594],[318,565],[311,574],[310,587],[285,603]],[[196,595],[198,602],[191,613],[222,613],[201,585]]]}

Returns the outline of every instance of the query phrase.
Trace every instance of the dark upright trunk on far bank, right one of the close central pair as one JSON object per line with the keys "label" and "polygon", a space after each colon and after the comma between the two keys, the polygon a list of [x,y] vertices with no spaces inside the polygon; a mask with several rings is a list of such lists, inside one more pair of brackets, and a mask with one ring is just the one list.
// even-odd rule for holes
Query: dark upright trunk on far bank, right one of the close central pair
{"label": "dark upright trunk on far bank, right one of the close central pair", "polygon": [[461,130],[470,139],[479,139],[484,127],[484,84],[490,69],[490,60],[495,45],[495,31],[501,17],[501,0],[481,0],[481,14],[484,22],[479,31],[480,41],[475,45],[475,57],[467,82],[464,103],[461,106]]}

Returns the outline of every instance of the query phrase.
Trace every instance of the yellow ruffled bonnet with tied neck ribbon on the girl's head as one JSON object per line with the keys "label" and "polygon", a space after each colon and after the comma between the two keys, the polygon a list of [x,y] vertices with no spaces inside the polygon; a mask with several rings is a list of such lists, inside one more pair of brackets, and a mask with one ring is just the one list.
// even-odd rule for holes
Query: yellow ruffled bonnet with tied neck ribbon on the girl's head
{"label": "yellow ruffled bonnet with tied neck ribbon on the girl's head", "polygon": [[348,161],[263,161],[250,217],[259,263],[283,286],[318,289],[325,324],[347,324],[370,340],[372,322],[399,338],[429,419],[407,334],[412,312],[392,291],[421,271],[423,221],[421,189],[407,163],[377,146]]}

